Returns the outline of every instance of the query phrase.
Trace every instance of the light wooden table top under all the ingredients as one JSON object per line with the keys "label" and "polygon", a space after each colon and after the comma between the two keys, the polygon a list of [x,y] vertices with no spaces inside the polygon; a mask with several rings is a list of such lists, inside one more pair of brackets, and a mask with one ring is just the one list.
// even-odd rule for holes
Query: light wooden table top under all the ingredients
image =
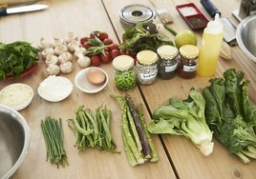
{"label": "light wooden table top under all the ingredients", "polygon": [[[201,10],[199,1],[185,0],[162,0],[156,3],[157,8],[168,10],[174,18],[174,24],[170,27],[176,30],[189,29],[182,20],[175,6],[193,2]],[[239,8],[240,1],[230,0],[228,6],[221,0],[213,1],[216,7],[222,11],[223,16],[235,19],[230,10]],[[15,14],[0,18],[0,41],[9,43],[16,40],[26,40],[33,46],[38,46],[41,37],[52,41],[53,37],[65,38],[69,31],[78,37],[86,36],[93,30],[104,30],[109,33],[114,42],[121,43],[123,29],[119,23],[119,10],[129,4],[143,4],[152,7],[148,0],[45,0],[50,6],[48,10],[32,13]],[[152,7],[153,8],[153,7]],[[205,10],[204,14],[207,15]],[[236,21],[235,21],[236,22]],[[156,23],[160,23],[159,17]],[[199,41],[202,31],[195,31]],[[173,37],[170,33],[166,33]],[[225,61],[220,58],[216,76],[222,76],[224,70],[235,68],[245,71],[245,78],[250,80],[250,100],[256,104],[256,79],[253,71],[256,65],[245,56],[239,47],[232,47],[233,60]],[[37,88],[39,83],[47,77],[44,62],[40,62],[37,69],[31,75],[15,81],[0,82],[0,89],[11,83],[25,83],[34,90],[32,104],[20,111],[26,118],[31,128],[31,146],[29,153],[21,167],[13,175],[13,178],[256,178],[256,161],[248,165],[240,162],[234,155],[227,152],[223,145],[214,139],[215,147],[213,153],[205,157],[196,147],[184,137],[171,135],[154,135],[154,143],[160,154],[158,163],[147,163],[136,168],[131,168],[123,151],[120,132],[120,108],[110,94],[125,94],[116,89],[113,80],[112,65],[102,65],[100,68],[107,71],[110,81],[106,89],[96,94],[86,94],[75,87],[75,73],[80,70],[75,67],[71,74],[63,75],[74,84],[72,94],[64,101],[50,103],[42,99]],[[171,80],[158,79],[154,85],[141,86],[128,91],[135,103],[142,103],[147,122],[150,114],[170,97],[186,98],[191,87],[202,89],[208,85],[208,79],[197,76],[191,80],[183,80],[176,76]],[[164,88],[164,89],[163,89]],[[74,147],[75,136],[69,129],[66,120],[72,118],[75,109],[84,105],[86,108],[96,109],[101,105],[107,105],[112,110],[113,118],[111,131],[117,143],[120,154],[101,152],[96,149],[88,149],[78,152]],[[148,108],[146,108],[148,107]],[[46,149],[43,135],[40,129],[40,121],[46,116],[64,119],[65,147],[69,159],[69,167],[56,169],[50,162],[46,161]]]}

